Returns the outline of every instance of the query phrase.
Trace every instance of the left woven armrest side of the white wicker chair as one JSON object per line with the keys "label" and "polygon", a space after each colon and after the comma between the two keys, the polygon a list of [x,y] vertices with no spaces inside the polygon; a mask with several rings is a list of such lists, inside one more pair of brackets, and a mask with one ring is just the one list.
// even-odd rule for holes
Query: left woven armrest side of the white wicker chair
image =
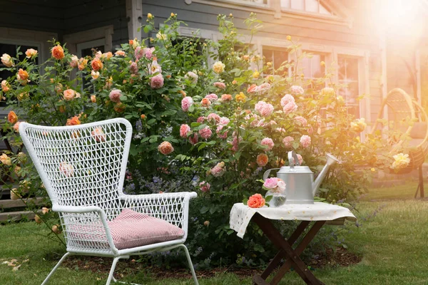
{"label": "left woven armrest side of the white wicker chair", "polygon": [[54,204],[52,210],[59,212],[67,247],[118,252],[108,227],[106,212],[100,207]]}

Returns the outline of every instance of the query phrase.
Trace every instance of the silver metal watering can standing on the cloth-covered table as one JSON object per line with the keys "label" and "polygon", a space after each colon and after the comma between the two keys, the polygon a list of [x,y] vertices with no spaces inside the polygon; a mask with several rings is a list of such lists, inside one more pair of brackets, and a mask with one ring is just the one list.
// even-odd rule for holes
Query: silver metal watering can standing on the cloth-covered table
{"label": "silver metal watering can standing on the cloth-covered table", "polygon": [[[294,158],[294,160],[293,160]],[[277,177],[284,180],[285,186],[285,204],[313,204],[314,196],[324,180],[330,165],[338,162],[333,155],[327,154],[327,163],[322,168],[320,175],[314,182],[314,172],[307,166],[300,166],[299,159],[294,150],[288,152],[288,162],[290,166],[281,168],[272,168],[263,175],[263,180],[269,177],[271,170],[280,170]]]}

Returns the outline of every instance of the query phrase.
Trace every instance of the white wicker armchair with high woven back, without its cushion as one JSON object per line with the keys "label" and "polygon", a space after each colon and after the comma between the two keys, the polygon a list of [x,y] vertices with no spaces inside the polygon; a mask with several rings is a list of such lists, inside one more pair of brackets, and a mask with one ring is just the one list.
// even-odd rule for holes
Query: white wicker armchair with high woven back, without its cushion
{"label": "white wicker armchair with high woven back, without its cushion", "polygon": [[[198,284],[187,247],[189,200],[195,192],[151,195],[126,195],[122,191],[126,162],[131,144],[132,126],[117,118],[68,127],[46,127],[21,123],[24,145],[59,213],[69,254],[113,257],[106,284],[113,277],[119,259],[131,255],[164,252],[182,247],[188,259],[193,281]],[[153,162],[148,162],[153,163]],[[183,230],[184,236],[167,242],[118,249],[109,228],[122,209],[163,219]]]}

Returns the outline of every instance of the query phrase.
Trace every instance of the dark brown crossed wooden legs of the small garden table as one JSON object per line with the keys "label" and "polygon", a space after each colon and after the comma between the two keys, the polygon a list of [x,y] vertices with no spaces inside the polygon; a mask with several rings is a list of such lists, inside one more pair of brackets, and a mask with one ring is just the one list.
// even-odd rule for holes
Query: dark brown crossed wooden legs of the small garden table
{"label": "dark brown crossed wooden legs of the small garden table", "polygon": [[[321,229],[321,227],[325,224],[326,221],[315,222],[315,224],[310,228],[309,232],[307,232],[305,237],[303,237],[302,242],[300,242],[300,244],[298,244],[295,249],[292,249],[292,245],[295,244],[297,239],[302,235],[307,226],[310,224],[309,221],[300,222],[300,224],[297,226],[297,229],[295,229],[295,231],[288,239],[284,239],[284,237],[282,237],[282,234],[277,230],[277,228],[272,224],[272,222],[270,222],[270,219],[266,219],[260,214],[255,214],[253,217],[253,221],[258,224],[260,229],[263,231],[265,236],[270,239],[272,244],[274,244],[275,247],[280,249],[280,251],[272,259],[272,261],[270,261],[269,265],[267,265],[265,271],[263,271],[263,273],[260,275],[255,274],[253,276],[254,284],[276,285],[281,281],[282,277],[292,267],[293,269],[295,269],[297,274],[302,277],[303,281],[305,281],[306,284],[324,285],[324,283],[318,280],[314,276],[314,274],[312,274],[312,272],[307,269],[305,263],[302,261],[302,259],[300,259],[300,254],[302,254],[303,250],[307,247],[307,244],[309,244],[312,239],[317,235],[317,232]],[[282,264],[275,276],[273,276],[270,283],[267,283],[267,277],[270,276],[272,271],[278,266],[278,264],[280,264],[281,259],[285,259],[284,264]]]}

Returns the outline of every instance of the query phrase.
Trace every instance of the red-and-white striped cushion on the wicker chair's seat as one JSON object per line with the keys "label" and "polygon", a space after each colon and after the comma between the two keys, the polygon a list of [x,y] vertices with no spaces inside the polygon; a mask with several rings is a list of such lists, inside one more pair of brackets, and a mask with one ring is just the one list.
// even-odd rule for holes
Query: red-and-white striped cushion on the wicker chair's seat
{"label": "red-and-white striped cushion on the wicker chair's seat", "polygon": [[123,209],[118,217],[108,222],[108,226],[117,249],[167,242],[184,236],[183,229],[131,209]]}

